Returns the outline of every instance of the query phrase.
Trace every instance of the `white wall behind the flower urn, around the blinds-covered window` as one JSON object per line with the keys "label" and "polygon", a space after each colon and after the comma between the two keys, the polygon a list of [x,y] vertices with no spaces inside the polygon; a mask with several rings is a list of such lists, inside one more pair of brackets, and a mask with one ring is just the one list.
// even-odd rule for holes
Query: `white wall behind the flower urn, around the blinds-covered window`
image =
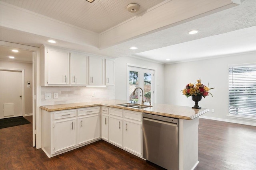
{"label": "white wall behind the flower urn, around the blinds-covered window", "polygon": [[[188,83],[195,83],[201,78],[202,84],[215,89],[210,90],[211,96],[206,96],[198,103],[199,106],[210,109],[203,116],[210,119],[230,122],[256,123],[255,121],[229,118],[228,115],[228,65],[256,63],[256,52],[229,55],[220,58],[212,58],[186,63],[168,64],[165,66],[165,103],[194,106],[191,97],[182,96],[182,92]],[[214,113],[211,110],[214,109]],[[256,124],[255,124],[256,125]]]}

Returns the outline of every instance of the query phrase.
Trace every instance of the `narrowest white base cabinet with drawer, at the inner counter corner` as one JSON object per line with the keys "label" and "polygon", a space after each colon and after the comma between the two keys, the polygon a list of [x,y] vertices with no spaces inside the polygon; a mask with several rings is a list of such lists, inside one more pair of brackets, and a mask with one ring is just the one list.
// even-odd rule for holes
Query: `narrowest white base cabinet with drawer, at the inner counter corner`
{"label": "narrowest white base cabinet with drawer, at the inner counter corner", "polygon": [[108,107],[101,107],[102,119],[101,119],[101,137],[105,141],[108,141]]}

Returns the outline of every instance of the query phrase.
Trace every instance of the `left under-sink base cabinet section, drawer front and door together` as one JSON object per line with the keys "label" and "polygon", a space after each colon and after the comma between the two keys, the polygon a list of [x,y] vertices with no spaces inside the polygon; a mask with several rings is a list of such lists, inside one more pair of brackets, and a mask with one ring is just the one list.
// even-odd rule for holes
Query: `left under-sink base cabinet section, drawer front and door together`
{"label": "left under-sink base cabinet section, drawer front and door together", "polygon": [[110,108],[109,114],[109,141],[123,147],[123,111]]}

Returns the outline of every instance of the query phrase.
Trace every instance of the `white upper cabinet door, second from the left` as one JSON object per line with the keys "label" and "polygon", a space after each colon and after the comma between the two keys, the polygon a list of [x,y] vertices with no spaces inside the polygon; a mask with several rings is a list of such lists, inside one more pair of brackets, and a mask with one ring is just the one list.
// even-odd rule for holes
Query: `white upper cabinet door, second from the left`
{"label": "white upper cabinet door, second from the left", "polygon": [[70,84],[87,84],[87,56],[70,54]]}

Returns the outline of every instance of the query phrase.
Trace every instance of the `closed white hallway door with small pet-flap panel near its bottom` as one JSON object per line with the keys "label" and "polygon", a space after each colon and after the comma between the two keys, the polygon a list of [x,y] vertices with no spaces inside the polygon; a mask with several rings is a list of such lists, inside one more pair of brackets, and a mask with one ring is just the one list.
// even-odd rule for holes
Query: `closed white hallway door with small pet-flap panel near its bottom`
{"label": "closed white hallway door with small pet-flap panel near its bottom", "polygon": [[0,70],[0,119],[22,116],[22,71]]}

